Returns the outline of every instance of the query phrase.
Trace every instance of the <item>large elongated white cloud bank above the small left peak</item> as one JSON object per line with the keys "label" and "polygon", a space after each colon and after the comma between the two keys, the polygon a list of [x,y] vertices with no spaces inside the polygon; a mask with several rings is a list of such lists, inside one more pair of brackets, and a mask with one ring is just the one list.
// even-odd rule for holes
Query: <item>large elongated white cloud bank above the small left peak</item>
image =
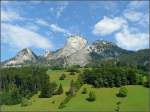
{"label": "large elongated white cloud bank above the small left peak", "polygon": [[2,43],[13,48],[35,47],[48,49],[52,47],[48,38],[24,27],[2,23],[1,28]]}

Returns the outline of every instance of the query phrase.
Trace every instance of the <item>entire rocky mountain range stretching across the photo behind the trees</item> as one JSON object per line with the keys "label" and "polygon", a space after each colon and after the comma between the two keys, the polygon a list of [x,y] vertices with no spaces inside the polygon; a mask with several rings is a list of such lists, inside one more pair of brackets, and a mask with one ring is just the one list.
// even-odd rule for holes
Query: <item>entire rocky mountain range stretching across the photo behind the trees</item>
{"label": "entire rocky mountain range stretching across the photo behind the trees", "polygon": [[[97,40],[92,44],[81,36],[70,36],[63,48],[56,51],[45,51],[43,56],[36,54],[29,48],[20,51],[14,58],[3,62],[4,67],[17,67],[28,64],[40,66],[85,66],[90,62],[115,59],[122,63],[147,65],[148,50],[137,52],[128,51],[116,44],[104,40]],[[128,61],[127,61],[128,60]]]}

